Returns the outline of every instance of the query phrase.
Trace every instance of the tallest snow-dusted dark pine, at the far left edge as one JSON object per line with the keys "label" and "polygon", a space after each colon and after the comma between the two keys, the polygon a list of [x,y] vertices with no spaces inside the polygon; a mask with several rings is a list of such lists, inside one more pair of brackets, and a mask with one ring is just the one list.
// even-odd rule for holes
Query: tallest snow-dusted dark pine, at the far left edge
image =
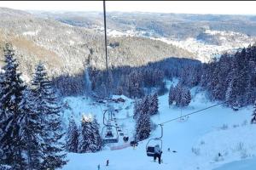
{"label": "tallest snow-dusted dark pine, at the far left edge", "polygon": [[19,110],[25,86],[17,71],[19,65],[10,44],[4,48],[4,58],[6,65],[3,66],[3,79],[0,82],[0,150],[3,150],[0,164],[14,169],[26,169],[22,154],[24,141],[21,140],[20,131],[24,115]]}

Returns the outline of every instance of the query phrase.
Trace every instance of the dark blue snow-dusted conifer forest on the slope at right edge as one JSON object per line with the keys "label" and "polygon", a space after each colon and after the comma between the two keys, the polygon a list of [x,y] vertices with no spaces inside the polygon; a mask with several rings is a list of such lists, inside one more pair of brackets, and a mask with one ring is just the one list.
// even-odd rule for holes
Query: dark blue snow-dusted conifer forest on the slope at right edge
{"label": "dark blue snow-dusted conifer forest on the slope at right edge", "polygon": [[203,65],[201,86],[214,100],[228,100],[228,105],[252,105],[256,99],[256,46],[242,48],[235,54],[223,54]]}

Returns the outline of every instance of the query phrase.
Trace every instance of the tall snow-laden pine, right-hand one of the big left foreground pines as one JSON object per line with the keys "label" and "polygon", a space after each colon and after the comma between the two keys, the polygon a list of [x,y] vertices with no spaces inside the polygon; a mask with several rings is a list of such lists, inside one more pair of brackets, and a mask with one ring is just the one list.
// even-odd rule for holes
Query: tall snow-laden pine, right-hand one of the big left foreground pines
{"label": "tall snow-laden pine, right-hand one of the big left foreground pines", "polygon": [[42,63],[39,63],[36,67],[32,86],[36,109],[40,112],[41,123],[44,127],[41,132],[45,143],[42,145],[44,161],[40,168],[55,169],[62,167],[67,161],[65,160],[66,154],[63,153],[64,144],[60,141],[64,134],[61,132],[61,108]]}

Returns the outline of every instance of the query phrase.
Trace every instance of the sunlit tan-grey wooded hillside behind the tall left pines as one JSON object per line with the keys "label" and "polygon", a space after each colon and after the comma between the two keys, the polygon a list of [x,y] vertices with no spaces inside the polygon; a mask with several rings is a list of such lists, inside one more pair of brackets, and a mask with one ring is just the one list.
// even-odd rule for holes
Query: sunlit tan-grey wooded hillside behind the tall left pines
{"label": "sunlit tan-grey wooded hillside behind the tall left pines", "polygon": [[[11,8],[0,8],[0,46],[12,42],[26,77],[43,60],[50,76],[76,75],[86,65],[105,68],[103,35],[95,30],[70,26],[54,19]],[[192,53],[176,46],[144,37],[109,37],[109,65],[145,65],[171,56],[194,58]],[[3,55],[0,58],[3,61]],[[1,62],[3,65],[3,62]]]}

